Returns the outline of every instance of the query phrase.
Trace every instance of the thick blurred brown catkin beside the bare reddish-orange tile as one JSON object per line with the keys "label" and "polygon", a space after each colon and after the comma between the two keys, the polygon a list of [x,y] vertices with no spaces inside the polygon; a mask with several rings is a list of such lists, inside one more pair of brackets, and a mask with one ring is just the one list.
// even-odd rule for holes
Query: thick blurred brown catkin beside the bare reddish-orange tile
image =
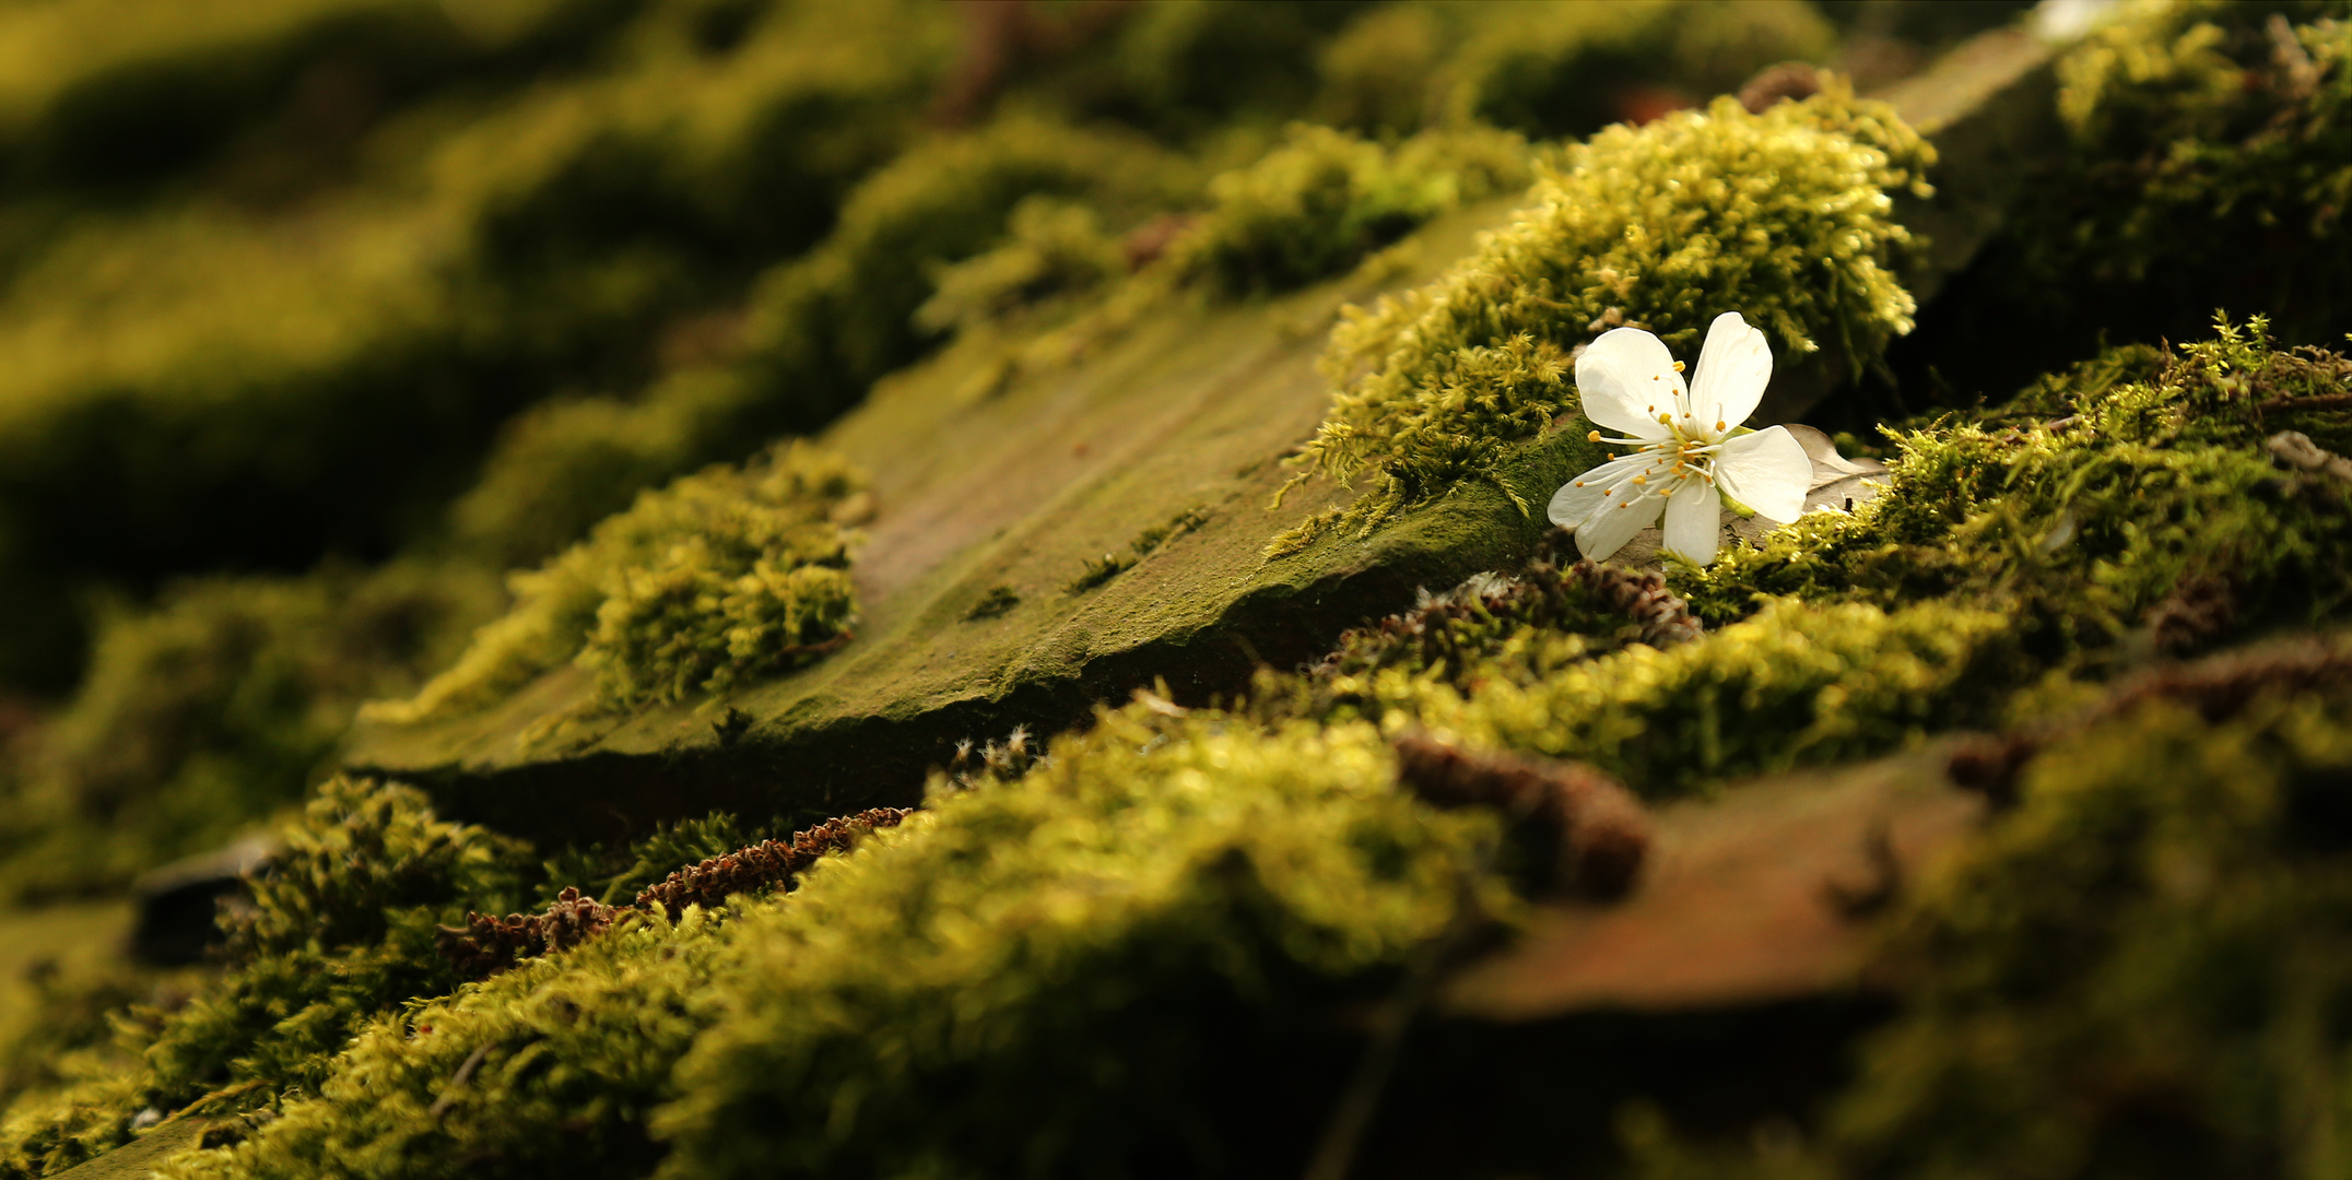
{"label": "thick blurred brown catkin beside the bare reddish-orange tile", "polygon": [[1435,806],[1494,806],[1550,851],[1541,884],[1623,898],[1649,856],[1649,813],[1606,773],[1581,762],[1465,752],[1406,733],[1397,778]]}

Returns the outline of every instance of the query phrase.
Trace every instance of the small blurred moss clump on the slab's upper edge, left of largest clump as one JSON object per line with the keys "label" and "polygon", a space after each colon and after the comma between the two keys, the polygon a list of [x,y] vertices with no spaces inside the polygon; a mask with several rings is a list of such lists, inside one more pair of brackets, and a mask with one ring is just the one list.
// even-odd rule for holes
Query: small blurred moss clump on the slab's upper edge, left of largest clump
{"label": "small blurred moss clump on the slab's upper edge, left of largest clump", "polygon": [[1536,160],[1524,139],[1489,127],[1374,143],[1294,125],[1258,162],[1209,181],[1209,209],[1169,261],[1228,296],[1287,291],[1463,202],[1524,188]]}

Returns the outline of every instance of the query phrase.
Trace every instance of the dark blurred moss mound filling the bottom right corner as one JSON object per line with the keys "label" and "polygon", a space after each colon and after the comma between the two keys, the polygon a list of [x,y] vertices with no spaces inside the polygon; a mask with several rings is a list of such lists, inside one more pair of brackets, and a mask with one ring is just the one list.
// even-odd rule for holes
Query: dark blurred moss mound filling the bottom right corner
{"label": "dark blurred moss mound filling the bottom right corner", "polygon": [[[2343,658],[2345,637],[2300,637]],[[2241,658],[2258,682],[2258,653]],[[1915,881],[1879,973],[1903,1013],[1809,1138],[1632,1124],[1646,1180],[2190,1178],[2343,1159],[2352,912],[2343,679],[2147,693],[2044,738],[2016,804]],[[2150,1114],[2161,1112],[2161,1114]],[[2147,1119],[2164,1135],[2152,1140]]]}

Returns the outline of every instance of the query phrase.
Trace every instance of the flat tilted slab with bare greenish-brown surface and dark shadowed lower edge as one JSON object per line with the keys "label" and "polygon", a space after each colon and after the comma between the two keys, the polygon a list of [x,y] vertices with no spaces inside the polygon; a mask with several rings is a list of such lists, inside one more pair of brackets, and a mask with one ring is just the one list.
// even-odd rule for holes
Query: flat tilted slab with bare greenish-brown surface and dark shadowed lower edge
{"label": "flat tilted slab with bare greenish-brown surface and dark shadowed lower edge", "polygon": [[[2002,73],[2006,82],[1980,85],[1980,63],[1966,78],[1938,71],[1905,101],[1971,108],[2046,85],[2039,47],[1999,52],[2025,61]],[[2011,106],[2032,113],[2006,118],[2046,118]],[[1945,155],[1945,169],[1978,162]],[[2009,197],[1959,188],[1966,200]],[[588,675],[564,668],[473,717],[362,724],[348,764],[423,783],[468,820],[557,842],[713,806],[833,816],[910,804],[924,769],[946,764],[960,738],[1058,729],[1155,677],[1183,700],[1232,693],[1256,665],[1317,656],[1338,630],[1406,606],[1416,588],[1515,562],[1543,519],[1512,501],[1541,505],[1592,465],[1583,437],[1550,433],[1519,444],[1494,480],[1369,534],[1345,529],[1265,557],[1270,538],[1362,494],[1315,480],[1268,508],[1296,475],[1284,458],[1329,409],[1315,364],[1338,308],[1428,282],[1508,223],[1512,205],[1449,214],[1355,275],[1294,296],[1169,301],[1044,371],[1011,364],[1000,338],[967,336],[882,381],[821,437],[873,472],[875,515],[854,552],[863,623],[849,646],[781,679],[602,719],[581,712]],[[1938,252],[1933,266],[1964,261]],[[1188,512],[1204,522],[1136,552]],[[1134,564],[1073,592],[1105,555]],[[1000,588],[1018,604],[974,616]]]}

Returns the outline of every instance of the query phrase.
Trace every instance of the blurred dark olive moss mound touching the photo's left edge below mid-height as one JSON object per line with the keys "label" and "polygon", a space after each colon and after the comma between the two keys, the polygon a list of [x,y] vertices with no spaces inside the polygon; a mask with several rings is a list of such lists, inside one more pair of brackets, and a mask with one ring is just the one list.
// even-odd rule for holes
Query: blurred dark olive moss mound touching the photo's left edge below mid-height
{"label": "blurred dark olive moss mound touching the photo's left edge below mid-height", "polygon": [[113,889],[292,809],[372,696],[496,611],[487,574],[209,578],[99,630],[80,693],[0,787],[0,896]]}

